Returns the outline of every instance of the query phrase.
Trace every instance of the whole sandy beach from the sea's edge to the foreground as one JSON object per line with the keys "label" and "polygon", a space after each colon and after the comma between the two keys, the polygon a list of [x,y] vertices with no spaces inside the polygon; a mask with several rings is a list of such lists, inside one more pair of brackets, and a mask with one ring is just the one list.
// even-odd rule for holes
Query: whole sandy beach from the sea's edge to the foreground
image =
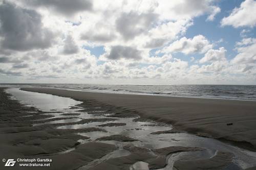
{"label": "whole sandy beach from the sea's edge to the foreground", "polygon": [[80,170],[254,169],[256,165],[251,152],[255,102],[16,89],[24,95],[32,91],[34,100],[53,94],[79,103],[66,111],[54,107],[42,111],[11,98],[6,89],[0,89],[2,159],[51,159],[47,169]]}

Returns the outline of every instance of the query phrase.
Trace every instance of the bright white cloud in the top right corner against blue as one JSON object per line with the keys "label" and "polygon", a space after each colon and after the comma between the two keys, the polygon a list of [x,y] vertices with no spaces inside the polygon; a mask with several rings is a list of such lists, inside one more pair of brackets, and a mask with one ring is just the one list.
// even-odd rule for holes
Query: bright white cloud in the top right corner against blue
{"label": "bright white cloud in the top right corner against blue", "polygon": [[256,26],[256,1],[246,0],[239,8],[234,8],[231,14],[221,20],[222,26],[254,27]]}

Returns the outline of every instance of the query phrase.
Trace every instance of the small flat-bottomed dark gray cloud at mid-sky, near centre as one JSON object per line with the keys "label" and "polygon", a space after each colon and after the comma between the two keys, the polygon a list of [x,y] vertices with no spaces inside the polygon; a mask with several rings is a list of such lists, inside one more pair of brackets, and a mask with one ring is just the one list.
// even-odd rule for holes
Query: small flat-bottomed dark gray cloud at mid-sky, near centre
{"label": "small flat-bottomed dark gray cloud at mid-sky, near centre", "polygon": [[141,52],[130,46],[117,45],[111,47],[110,54],[106,57],[112,60],[121,58],[139,60],[141,59]]}

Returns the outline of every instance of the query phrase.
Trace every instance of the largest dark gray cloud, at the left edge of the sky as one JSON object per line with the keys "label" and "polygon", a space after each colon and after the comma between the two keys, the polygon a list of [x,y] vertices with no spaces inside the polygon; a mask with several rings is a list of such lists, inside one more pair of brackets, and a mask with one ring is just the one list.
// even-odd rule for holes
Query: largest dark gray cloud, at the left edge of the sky
{"label": "largest dark gray cloud, at the left edge of the sky", "polygon": [[47,48],[53,38],[52,32],[43,28],[37,12],[8,3],[0,5],[0,36],[3,48],[16,51]]}

